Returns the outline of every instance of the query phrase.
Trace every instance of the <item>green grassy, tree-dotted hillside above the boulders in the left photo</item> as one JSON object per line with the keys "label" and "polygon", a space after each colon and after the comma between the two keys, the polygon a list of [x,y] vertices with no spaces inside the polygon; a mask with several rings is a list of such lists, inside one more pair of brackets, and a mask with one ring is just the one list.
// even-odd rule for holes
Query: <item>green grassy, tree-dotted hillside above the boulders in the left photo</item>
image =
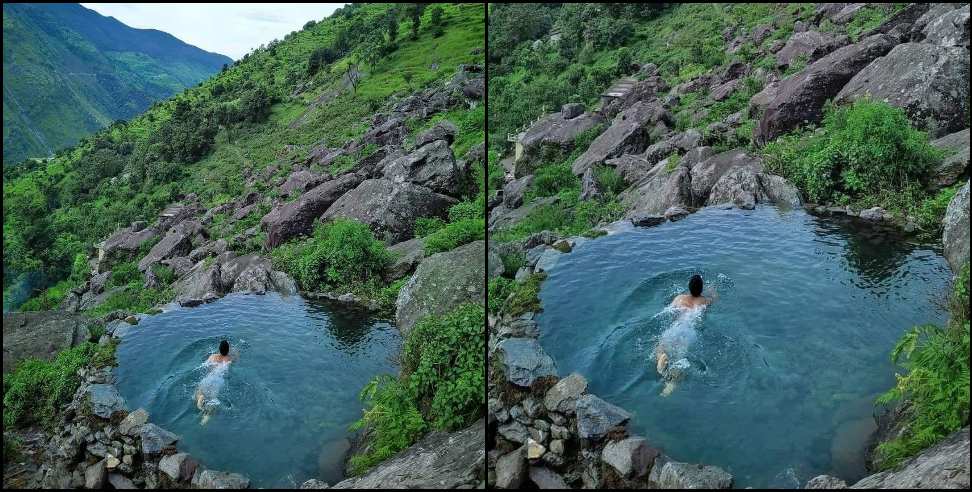
{"label": "green grassy, tree-dotted hillside above the boulders in the left photo", "polygon": [[[46,294],[46,305],[56,302],[71,285],[76,260],[84,271],[93,245],[119,227],[151,223],[165,205],[189,193],[215,206],[248,191],[271,192],[265,182],[248,189],[244,176],[271,166],[271,179],[286,176],[311,148],[341,146],[363,134],[371,115],[397,98],[447,80],[459,64],[482,63],[481,5],[443,5],[439,26],[432,23],[434,9],[425,9],[414,39],[406,9],[345,7],[49,162],[5,169],[5,307],[11,285],[38,276],[47,284],[60,282]],[[397,25],[395,39],[389,37],[390,19]],[[309,70],[312,55],[322,50],[330,53],[323,66]],[[354,90],[345,78],[352,63],[363,73]],[[442,117],[459,126],[457,156],[482,142],[482,105],[410,127],[419,131]],[[236,229],[255,225],[259,215],[239,221]],[[242,230],[236,229],[211,233],[218,238]]]}

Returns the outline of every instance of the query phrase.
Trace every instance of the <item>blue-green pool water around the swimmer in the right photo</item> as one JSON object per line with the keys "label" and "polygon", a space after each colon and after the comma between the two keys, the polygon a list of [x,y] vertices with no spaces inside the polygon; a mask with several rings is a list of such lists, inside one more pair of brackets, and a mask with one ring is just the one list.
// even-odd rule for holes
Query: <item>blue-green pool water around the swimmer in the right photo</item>
{"label": "blue-green pool water around the swimmer in the right photo", "polygon": [[[680,320],[665,307],[695,273],[719,297]],[[632,412],[634,432],[737,487],[853,480],[874,398],[894,383],[888,354],[912,325],[944,321],[949,278],[934,245],[802,210],[705,209],[563,255],[540,293],[541,343],[561,375]],[[660,339],[684,357],[667,397]]]}

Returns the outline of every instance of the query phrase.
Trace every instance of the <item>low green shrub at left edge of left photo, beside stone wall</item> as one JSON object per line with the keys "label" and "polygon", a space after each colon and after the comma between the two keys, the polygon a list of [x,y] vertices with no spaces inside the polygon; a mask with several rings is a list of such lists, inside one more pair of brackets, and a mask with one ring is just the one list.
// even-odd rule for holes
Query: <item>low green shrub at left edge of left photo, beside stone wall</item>
{"label": "low green shrub at left edge of left photo, beside stone wall", "polygon": [[53,429],[61,405],[71,400],[81,383],[78,369],[88,364],[96,347],[84,342],[51,361],[25,359],[4,375],[4,428],[38,423]]}

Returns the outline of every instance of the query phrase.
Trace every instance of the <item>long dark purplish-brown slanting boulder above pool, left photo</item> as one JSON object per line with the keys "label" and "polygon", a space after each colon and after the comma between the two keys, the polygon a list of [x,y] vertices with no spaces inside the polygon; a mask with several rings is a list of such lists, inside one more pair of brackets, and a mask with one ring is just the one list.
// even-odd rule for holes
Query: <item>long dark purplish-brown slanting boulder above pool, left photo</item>
{"label": "long dark purplish-brown slanting boulder above pool, left photo", "polygon": [[273,248],[300,234],[307,234],[314,219],[360,183],[361,177],[357,174],[345,174],[316,186],[295,202],[271,210],[261,220],[261,226],[267,231],[267,246]]}

